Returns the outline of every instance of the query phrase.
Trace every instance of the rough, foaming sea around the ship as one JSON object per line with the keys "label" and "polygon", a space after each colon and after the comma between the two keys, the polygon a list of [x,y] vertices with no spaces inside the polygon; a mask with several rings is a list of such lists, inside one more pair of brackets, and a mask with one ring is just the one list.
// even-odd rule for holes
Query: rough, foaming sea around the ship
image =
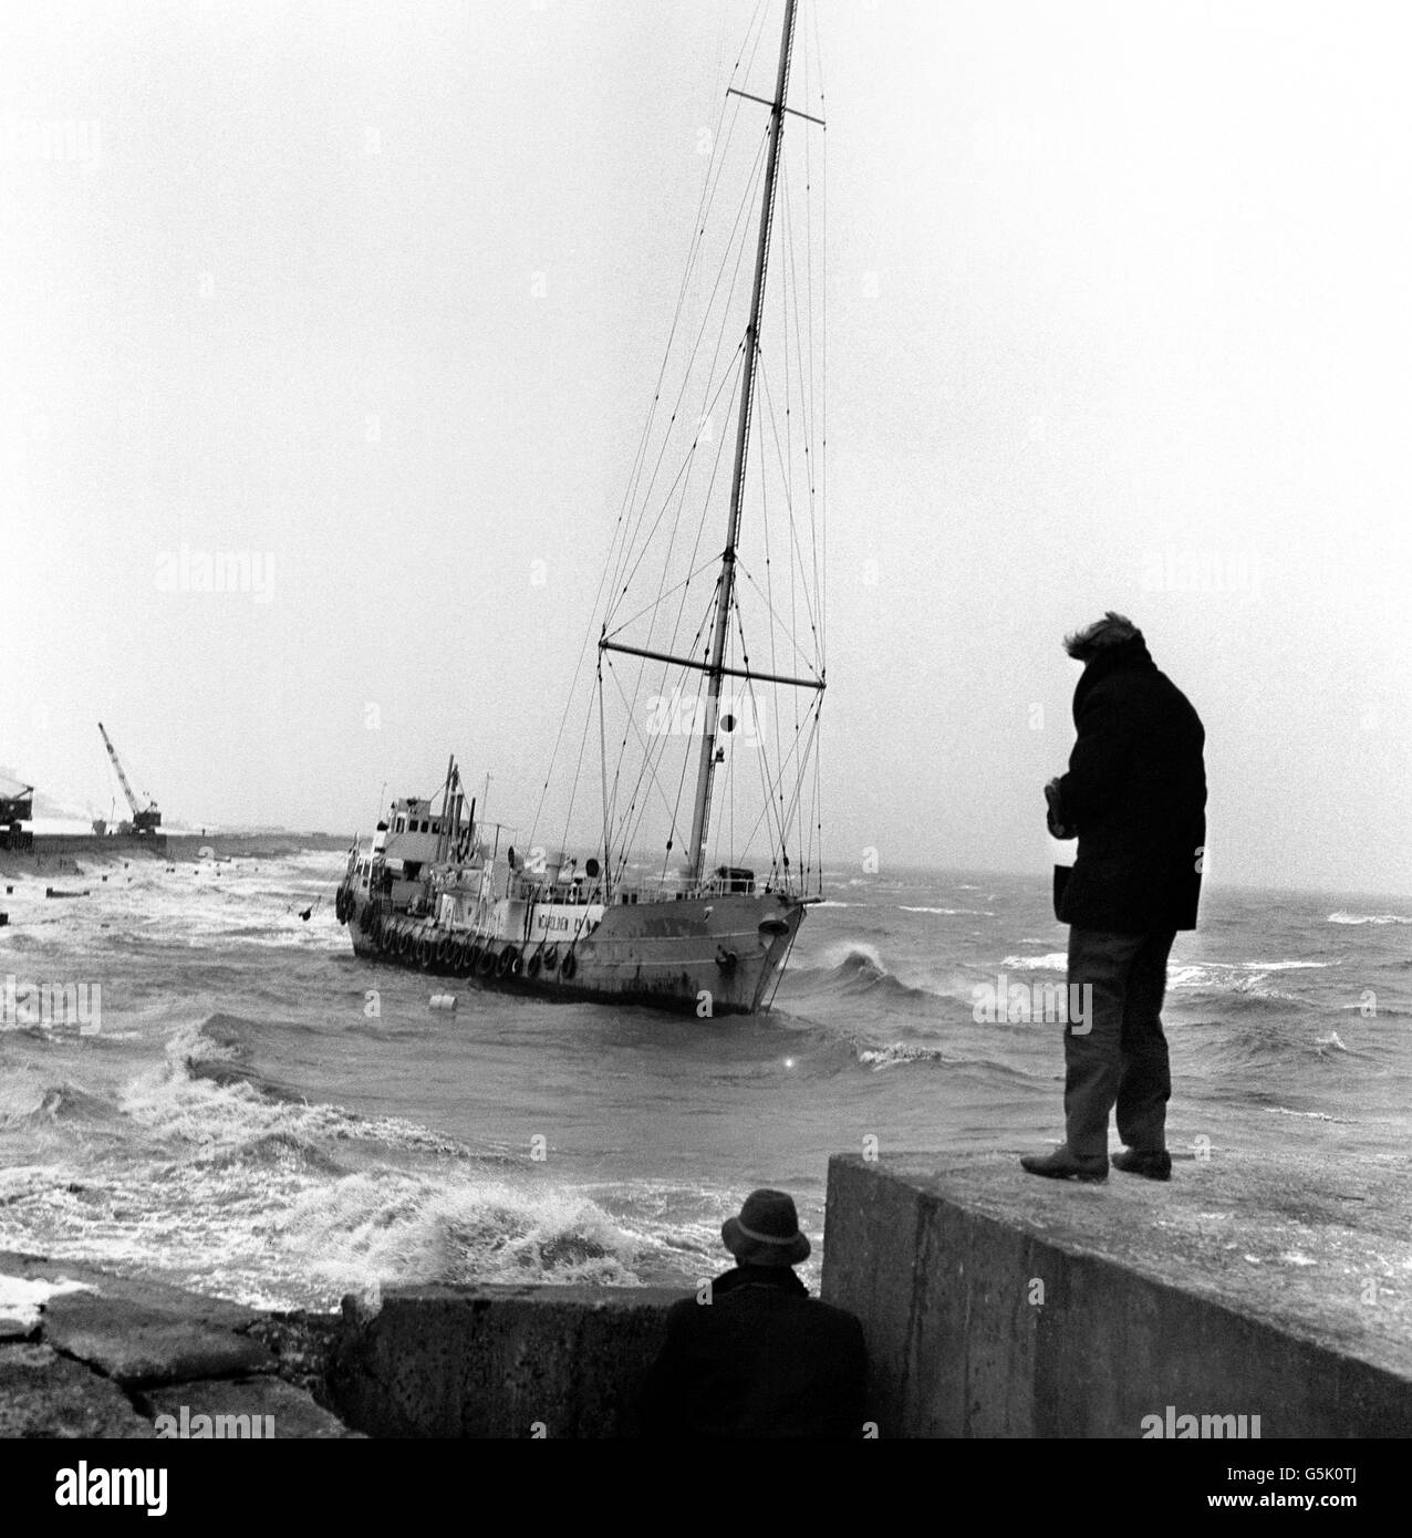
{"label": "rough, foaming sea around the ship", "polygon": [[[341,866],[5,878],[0,987],[86,986],[98,1010],[0,1018],[0,1249],[266,1307],[397,1281],[689,1286],[771,1184],[817,1289],[829,1154],[1061,1137],[1061,1024],[1021,1018],[1064,977],[1047,875],[837,872],[774,1010],[697,1020],[358,961]],[[977,989],[1003,1018],[975,1018]],[[445,992],[454,1012],[429,1007]],[[1207,886],[1164,1020],[1178,1160],[1406,1157],[1412,898]]]}

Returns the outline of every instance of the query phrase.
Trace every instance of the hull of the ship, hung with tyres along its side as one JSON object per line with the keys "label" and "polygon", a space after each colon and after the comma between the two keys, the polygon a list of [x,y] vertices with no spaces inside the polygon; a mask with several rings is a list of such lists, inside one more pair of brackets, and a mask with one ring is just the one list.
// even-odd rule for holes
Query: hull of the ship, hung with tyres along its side
{"label": "hull of the ship, hung with tyres along its side", "polygon": [[[491,938],[378,903],[349,903],[354,954],[475,987],[551,1000],[648,1004],[698,1018],[768,1007],[804,904],[777,892],[578,909],[555,940],[525,921],[529,938]],[[574,915],[574,909],[561,910]],[[537,937],[537,938],[535,938]]]}

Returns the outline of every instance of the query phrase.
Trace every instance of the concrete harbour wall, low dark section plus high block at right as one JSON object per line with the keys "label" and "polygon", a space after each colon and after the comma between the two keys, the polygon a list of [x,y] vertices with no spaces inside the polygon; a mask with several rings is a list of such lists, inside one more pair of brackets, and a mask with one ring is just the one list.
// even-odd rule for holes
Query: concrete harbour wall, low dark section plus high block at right
{"label": "concrete harbour wall, low dark section plus high block at right", "polygon": [[[860,1436],[1412,1435],[1406,1184],[1234,1157],[1081,1186],[1012,1155],[837,1155],[823,1297],[863,1321]],[[346,1300],[329,1403],[383,1436],[637,1436],[683,1295]]]}

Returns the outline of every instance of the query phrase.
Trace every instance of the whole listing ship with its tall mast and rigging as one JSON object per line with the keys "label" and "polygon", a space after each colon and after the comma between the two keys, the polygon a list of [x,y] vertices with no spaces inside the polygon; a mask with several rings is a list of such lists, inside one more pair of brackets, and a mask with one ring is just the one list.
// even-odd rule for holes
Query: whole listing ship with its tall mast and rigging
{"label": "whole listing ship with its tall mast and rigging", "polygon": [[[486,818],[485,797],[468,797],[452,755],[438,791],[392,800],[371,840],[348,852],[335,914],[363,960],[551,1000],[751,1015],[769,1009],[806,912],[823,900],[824,355],[808,317],[824,285],[791,258],[772,288],[769,261],[777,223],[808,240],[815,211],[821,220],[821,149],[806,140],[823,128],[823,94],[820,112],[788,100],[797,11],[784,0],[772,94],[744,88],[757,17],[721,97],[668,357],[571,686],[571,704],[580,681],[595,704],[561,777],[563,837],[538,837],[563,723],[520,847],[515,827]],[[814,78],[806,66],[806,92]],[[804,141],[792,189],[781,181],[786,118]],[[734,169],[740,201],[723,191]],[[712,245],[718,205],[735,217]],[[668,365],[683,355],[672,403]],[[704,409],[692,408],[689,380]],[[714,431],[718,417],[734,418],[734,434]],[[721,511],[724,544],[703,558],[703,531]],[[752,649],[768,661],[752,663]],[[572,852],[592,757],[597,826]]]}

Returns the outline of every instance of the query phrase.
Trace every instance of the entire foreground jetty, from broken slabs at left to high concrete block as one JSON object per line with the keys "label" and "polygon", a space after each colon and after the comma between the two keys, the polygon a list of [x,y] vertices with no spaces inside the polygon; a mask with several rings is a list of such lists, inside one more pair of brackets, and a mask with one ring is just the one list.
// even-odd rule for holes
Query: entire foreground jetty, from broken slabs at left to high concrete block
{"label": "entire foreground jetty, from broken slabs at left to high concrete block", "polygon": [[[835,1155],[821,1290],[863,1321],[860,1438],[1412,1435],[1401,1161],[1207,1150],[1075,1184],[1014,1154]],[[278,1436],[641,1436],[684,1295],[385,1286],[261,1315],[0,1255],[0,1435],[154,1435],[180,1400]]]}

